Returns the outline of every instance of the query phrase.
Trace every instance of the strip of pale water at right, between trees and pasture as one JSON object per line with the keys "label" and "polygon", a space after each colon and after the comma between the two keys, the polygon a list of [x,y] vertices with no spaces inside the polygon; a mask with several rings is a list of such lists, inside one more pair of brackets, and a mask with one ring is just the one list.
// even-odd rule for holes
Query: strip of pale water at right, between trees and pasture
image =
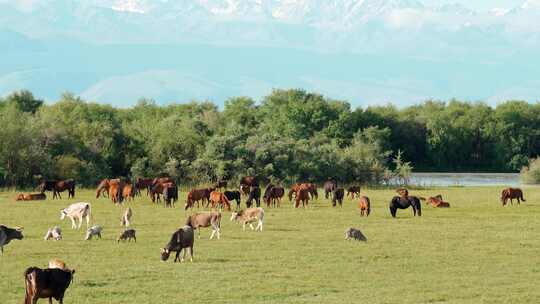
{"label": "strip of pale water at right, between trees and pasture", "polygon": [[416,186],[519,186],[519,173],[413,173]]}

